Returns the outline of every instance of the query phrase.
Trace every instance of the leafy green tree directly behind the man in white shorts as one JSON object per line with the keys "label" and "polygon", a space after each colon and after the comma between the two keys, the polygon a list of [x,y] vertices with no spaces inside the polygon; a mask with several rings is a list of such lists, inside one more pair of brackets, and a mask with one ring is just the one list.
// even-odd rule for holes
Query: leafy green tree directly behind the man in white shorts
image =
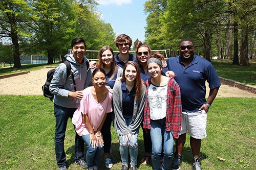
{"label": "leafy green tree directly behind the man in white shorts", "polygon": [[222,16],[222,1],[169,0],[165,11],[165,35],[170,40],[188,37],[198,49],[203,47],[204,58],[210,61],[212,34],[217,30]]}

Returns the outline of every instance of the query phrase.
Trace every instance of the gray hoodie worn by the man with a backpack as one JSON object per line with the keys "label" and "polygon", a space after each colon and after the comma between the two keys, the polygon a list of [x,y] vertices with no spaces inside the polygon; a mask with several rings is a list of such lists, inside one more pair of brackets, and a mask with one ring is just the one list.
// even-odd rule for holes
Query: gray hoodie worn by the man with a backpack
{"label": "gray hoodie worn by the man with a backpack", "polygon": [[[87,68],[86,62],[78,63],[73,57],[73,53],[65,56],[71,64],[71,72],[74,74],[76,90],[80,91],[92,85],[92,73]],[[83,61],[87,61],[83,56]],[[88,70],[88,71],[87,71]],[[55,69],[53,79],[50,84],[50,91],[54,94],[54,104],[67,107],[78,108],[80,100],[76,98],[68,98],[69,91],[75,91],[72,75],[67,79],[67,67],[64,63],[60,63]]]}

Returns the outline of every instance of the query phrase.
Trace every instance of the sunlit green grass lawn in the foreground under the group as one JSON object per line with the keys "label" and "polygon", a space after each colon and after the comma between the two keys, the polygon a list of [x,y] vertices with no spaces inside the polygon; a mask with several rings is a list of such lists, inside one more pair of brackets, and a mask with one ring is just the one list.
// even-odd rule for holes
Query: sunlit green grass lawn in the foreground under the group
{"label": "sunlit green grass lawn in the foreground under the group", "polygon": [[[44,96],[0,95],[0,169],[57,169],[54,150],[53,103]],[[217,98],[208,112],[207,138],[202,140],[203,169],[256,169],[255,98]],[[69,169],[74,164],[74,129],[68,123],[65,150]],[[119,143],[112,129],[114,166],[120,169]],[[138,161],[143,157],[142,130]],[[217,157],[224,158],[219,161]],[[182,169],[191,169],[187,136]],[[103,162],[99,169],[105,169]],[[139,169],[152,169],[151,164]]]}

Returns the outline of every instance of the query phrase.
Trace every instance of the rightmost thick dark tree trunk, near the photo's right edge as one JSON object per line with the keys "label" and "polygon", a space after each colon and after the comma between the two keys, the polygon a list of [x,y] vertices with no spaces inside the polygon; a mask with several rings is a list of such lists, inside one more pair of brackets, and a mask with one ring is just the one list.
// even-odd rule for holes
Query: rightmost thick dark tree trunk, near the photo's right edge
{"label": "rightmost thick dark tree trunk, near the photo's right edge", "polygon": [[248,58],[248,27],[242,28],[242,46],[239,65],[250,66]]}

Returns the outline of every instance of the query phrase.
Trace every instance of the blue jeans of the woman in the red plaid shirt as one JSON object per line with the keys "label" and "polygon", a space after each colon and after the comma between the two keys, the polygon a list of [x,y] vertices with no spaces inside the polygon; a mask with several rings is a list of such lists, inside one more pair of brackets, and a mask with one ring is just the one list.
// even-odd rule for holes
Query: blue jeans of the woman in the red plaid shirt
{"label": "blue jeans of the woman in the red plaid shirt", "polygon": [[151,120],[150,130],[152,140],[152,165],[153,170],[159,170],[163,142],[162,169],[169,169],[172,164],[174,137],[171,131],[165,131],[165,118]]}

